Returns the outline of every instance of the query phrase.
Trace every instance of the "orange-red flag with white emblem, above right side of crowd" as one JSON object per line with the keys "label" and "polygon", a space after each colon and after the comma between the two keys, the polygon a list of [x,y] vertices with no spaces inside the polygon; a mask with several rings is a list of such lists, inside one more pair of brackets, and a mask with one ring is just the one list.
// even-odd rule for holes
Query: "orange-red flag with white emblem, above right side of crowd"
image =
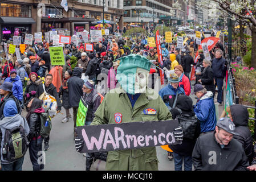
{"label": "orange-red flag with white emblem, above right side of crowd", "polygon": [[[203,39],[201,41],[201,44],[206,43],[207,46],[208,46],[208,50],[210,51],[218,43],[218,40],[220,40],[220,39],[216,38],[215,36],[210,36],[209,38]],[[200,50],[200,49],[202,49],[201,45],[198,46],[198,50]],[[194,58],[194,63],[197,63],[197,60],[198,60],[198,50],[197,50],[197,53],[196,53],[196,57]],[[194,75],[195,69],[196,69],[196,66],[193,66],[192,71],[191,71],[190,80],[196,80],[196,75]]]}

